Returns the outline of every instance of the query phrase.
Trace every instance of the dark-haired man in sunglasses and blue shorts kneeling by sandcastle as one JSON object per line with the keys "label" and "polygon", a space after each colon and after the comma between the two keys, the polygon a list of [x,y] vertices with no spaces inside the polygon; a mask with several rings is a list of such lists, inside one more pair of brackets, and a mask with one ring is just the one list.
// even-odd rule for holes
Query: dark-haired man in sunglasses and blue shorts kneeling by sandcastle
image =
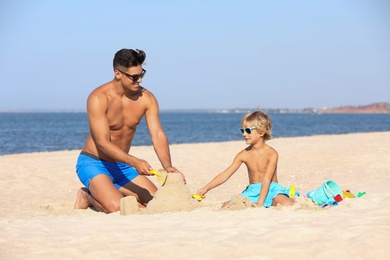
{"label": "dark-haired man in sunglasses and blue shorts kneeling by sandcastle", "polygon": [[75,209],[92,205],[98,211],[111,213],[120,210],[120,199],[124,196],[135,196],[140,206],[146,206],[153,198],[157,188],[145,176],[151,175],[152,167],[129,154],[135,130],[144,115],[161,165],[167,172],[180,173],[171,163],[157,100],[140,85],[146,73],[142,68],[145,58],[142,50],[118,51],[114,57],[114,79],[88,97],[90,134],[76,165],[86,188],[79,189]]}

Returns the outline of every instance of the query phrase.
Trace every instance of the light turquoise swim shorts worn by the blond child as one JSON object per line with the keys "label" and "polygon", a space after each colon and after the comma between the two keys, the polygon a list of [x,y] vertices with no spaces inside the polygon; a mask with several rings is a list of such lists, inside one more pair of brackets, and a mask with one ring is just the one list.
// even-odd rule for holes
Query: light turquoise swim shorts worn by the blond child
{"label": "light turquoise swim shorts worn by the blond child", "polygon": [[[254,183],[254,184],[250,184],[241,194],[243,197],[248,198],[253,203],[257,203],[260,196],[260,190],[261,190],[261,182]],[[272,206],[272,201],[279,194],[283,194],[289,197],[288,193],[285,191],[282,185],[276,182],[271,182],[263,206],[266,208]]]}

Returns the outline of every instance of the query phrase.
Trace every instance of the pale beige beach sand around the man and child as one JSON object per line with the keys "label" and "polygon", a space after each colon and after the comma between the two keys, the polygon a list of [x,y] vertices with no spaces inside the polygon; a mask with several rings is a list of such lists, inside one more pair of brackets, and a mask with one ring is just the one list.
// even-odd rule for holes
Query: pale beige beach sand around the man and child
{"label": "pale beige beach sand around the man and child", "polygon": [[[72,209],[79,151],[0,156],[0,259],[388,259],[390,132],[268,143],[279,152],[280,184],[302,194],[292,207],[221,210],[248,184],[245,166],[201,202],[176,203],[195,207],[172,206],[224,170],[244,141],[171,145],[185,189],[161,188],[153,210],[130,215]],[[161,167],[152,147],[131,153]],[[325,180],[366,195],[318,207],[304,195]]]}

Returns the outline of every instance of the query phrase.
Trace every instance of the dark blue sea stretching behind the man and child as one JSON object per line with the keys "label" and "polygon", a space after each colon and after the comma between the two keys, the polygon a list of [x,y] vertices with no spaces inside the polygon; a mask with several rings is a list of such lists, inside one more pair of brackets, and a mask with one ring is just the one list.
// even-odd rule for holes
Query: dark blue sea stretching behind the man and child
{"label": "dark blue sea stretching behind the man and child", "polygon": [[[161,112],[170,144],[243,140],[245,113]],[[390,114],[270,114],[273,138],[390,131]],[[85,112],[0,113],[0,155],[79,150],[89,128]],[[132,146],[151,145],[145,120]]]}

